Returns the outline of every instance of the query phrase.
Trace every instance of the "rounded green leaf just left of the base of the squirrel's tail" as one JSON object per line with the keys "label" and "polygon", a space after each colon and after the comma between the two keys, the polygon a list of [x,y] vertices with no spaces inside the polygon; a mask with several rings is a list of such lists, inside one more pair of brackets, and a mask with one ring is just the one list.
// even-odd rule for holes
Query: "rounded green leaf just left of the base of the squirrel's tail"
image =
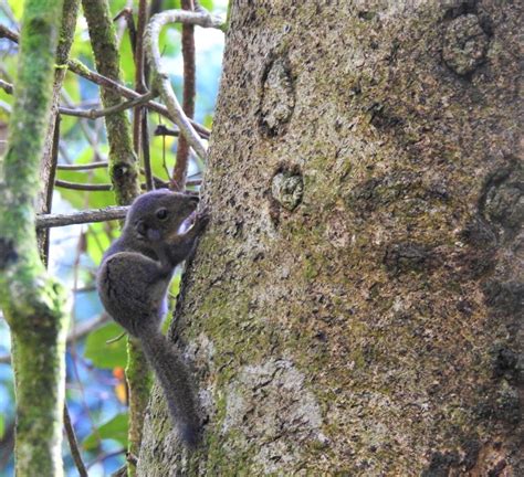
{"label": "rounded green leaf just left of the base of the squirrel's tail", "polygon": [[125,367],[127,362],[126,338],[107,343],[124,332],[118,325],[111,322],[90,333],[85,343],[85,358],[102,369]]}

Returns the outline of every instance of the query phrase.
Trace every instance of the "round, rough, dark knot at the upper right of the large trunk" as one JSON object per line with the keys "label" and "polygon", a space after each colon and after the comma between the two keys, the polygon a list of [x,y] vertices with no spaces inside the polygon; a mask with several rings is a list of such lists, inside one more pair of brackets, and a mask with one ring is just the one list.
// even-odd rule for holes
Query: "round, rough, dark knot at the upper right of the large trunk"
{"label": "round, rough, dark knot at the upper right of the large trunk", "polygon": [[458,17],[444,34],[444,63],[458,75],[467,76],[484,62],[489,42],[476,15]]}

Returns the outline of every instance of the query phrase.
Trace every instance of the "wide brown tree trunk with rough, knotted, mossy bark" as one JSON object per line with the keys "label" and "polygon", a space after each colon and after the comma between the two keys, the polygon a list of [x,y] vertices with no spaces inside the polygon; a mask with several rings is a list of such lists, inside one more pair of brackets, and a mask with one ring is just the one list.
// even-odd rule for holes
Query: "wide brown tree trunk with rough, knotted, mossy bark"
{"label": "wide brown tree trunk with rough, knotted, mossy bark", "polygon": [[322,3],[233,3],[174,321],[206,442],[156,392],[139,475],[523,475],[522,7]]}

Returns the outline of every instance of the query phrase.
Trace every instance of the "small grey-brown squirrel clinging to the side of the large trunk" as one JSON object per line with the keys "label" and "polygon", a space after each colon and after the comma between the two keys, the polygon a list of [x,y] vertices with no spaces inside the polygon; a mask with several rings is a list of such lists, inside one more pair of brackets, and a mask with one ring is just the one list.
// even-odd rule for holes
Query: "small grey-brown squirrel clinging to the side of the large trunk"
{"label": "small grey-brown squirrel clinging to the side of the large trunk", "polygon": [[140,340],[172,421],[189,448],[195,448],[199,441],[197,404],[189,371],[160,332],[160,325],[167,312],[167,290],[175,267],[190,255],[209,222],[206,212],[198,213],[193,225],[179,233],[198,202],[196,195],[167,189],[139,195],[127,213],[120,237],[104,254],[96,278],[106,311]]}

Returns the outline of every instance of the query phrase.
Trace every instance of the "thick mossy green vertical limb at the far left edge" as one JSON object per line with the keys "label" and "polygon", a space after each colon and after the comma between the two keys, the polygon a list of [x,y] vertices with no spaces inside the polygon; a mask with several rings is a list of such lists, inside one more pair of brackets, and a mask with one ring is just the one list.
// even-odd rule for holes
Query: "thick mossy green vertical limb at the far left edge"
{"label": "thick mossy green vertical limb at the far left edge", "polygon": [[65,293],[35,234],[39,163],[50,117],[62,1],[28,0],[9,149],[0,159],[0,306],[11,328],[20,476],[62,476]]}

